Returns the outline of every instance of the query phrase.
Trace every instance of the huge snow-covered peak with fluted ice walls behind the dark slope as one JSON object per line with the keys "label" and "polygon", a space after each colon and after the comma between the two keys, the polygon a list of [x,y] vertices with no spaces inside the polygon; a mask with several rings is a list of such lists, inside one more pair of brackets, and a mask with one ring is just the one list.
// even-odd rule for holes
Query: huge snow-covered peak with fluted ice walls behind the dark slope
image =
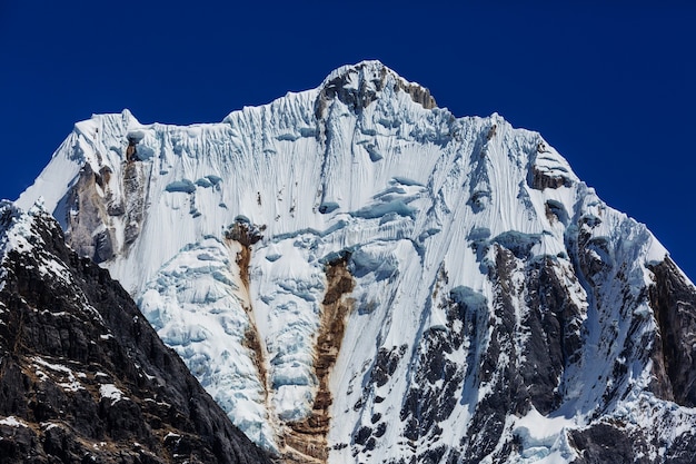
{"label": "huge snow-covered peak with fluted ice walls behind the dark slope", "polygon": [[377,61],[219,124],[78,122],[18,204],[285,462],[690,462],[696,289],[539,134]]}

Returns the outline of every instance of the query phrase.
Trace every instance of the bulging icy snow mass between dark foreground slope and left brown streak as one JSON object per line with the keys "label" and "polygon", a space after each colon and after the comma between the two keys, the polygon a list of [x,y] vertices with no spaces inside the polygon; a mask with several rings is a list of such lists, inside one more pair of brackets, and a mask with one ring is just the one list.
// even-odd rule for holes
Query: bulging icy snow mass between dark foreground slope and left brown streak
{"label": "bulging icy snow mass between dark foreground slope and left brown streak", "polygon": [[232,422],[271,446],[264,385],[253,353],[245,346],[252,322],[245,309],[248,299],[239,294],[243,285],[233,267],[235,254],[213,237],[185,247],[147,284],[138,304],[201,385],[226,411],[235,412]]}

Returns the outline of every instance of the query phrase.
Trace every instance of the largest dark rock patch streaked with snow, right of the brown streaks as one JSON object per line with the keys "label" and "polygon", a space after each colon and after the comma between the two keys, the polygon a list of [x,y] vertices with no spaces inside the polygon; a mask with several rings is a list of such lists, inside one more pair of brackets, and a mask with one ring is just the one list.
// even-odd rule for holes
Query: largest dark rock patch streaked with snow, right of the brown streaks
{"label": "largest dark rock patch streaked with snow, right of the brown streaks", "polygon": [[[471,422],[456,446],[421,446],[416,462],[506,461],[516,446],[506,437],[510,413],[558,408],[564,368],[577,361],[583,312],[559,282],[559,264],[550,258],[525,264],[499,244],[490,253],[493,300],[457,287],[440,300],[446,326],[424,334],[401,408],[406,436],[414,444],[437,442],[446,434],[438,424],[455,411],[459,392],[486,392],[485,397],[469,403]],[[524,307],[529,309],[520,315]],[[464,363],[455,361],[456,353],[465,354]]]}

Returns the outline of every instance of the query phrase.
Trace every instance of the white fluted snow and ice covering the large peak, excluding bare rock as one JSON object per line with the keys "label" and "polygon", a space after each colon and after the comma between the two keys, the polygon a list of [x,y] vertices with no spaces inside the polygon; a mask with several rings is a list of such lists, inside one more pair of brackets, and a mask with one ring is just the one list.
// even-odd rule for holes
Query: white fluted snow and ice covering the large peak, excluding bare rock
{"label": "white fluted snow and ice covering the large peak, excluding bare rock", "polygon": [[[415,356],[356,404],[380,348],[406,346],[408,358],[425,332],[445,327],[445,296],[459,295],[488,310],[488,245],[521,250],[527,259],[550,257],[567,278],[567,237],[583,219],[593,224],[587,230],[598,244],[596,259],[622,263],[635,292],[650,282],[646,264],[666,255],[643,225],[607,207],[538,134],[514,129],[498,115],[455,118],[447,109],[425,109],[399,88],[405,81],[392,71],[366,107],[356,110],[332,98],[319,108],[327,82],[347,75],[350,91],[369,87],[384,69],[377,62],[341,68],[319,89],[233,111],[219,124],[141,125],[127,110],[93,116],[76,125],[19,199],[29,207],[43,195],[46,208],[68,227],[67,218],[80,211],[71,210],[66,194],[80,171],[108,168],[108,180],[95,191],[103,205],[121,205],[125,213],[105,213],[103,206],[103,224],[92,230],[111,230],[116,256],[103,266],[232,422],[270,450],[280,446],[284,424],[311,409],[325,265],[341,251],[351,253],[355,310],[330,377],[337,418],[328,435],[330,462],[356,462],[351,436],[377,414],[389,427],[372,455],[398,460],[412,453],[401,438],[399,411],[418,368]],[[129,140],[137,142],[135,162],[126,161]],[[531,188],[535,171],[558,186]],[[128,176],[136,179],[130,187],[122,180]],[[138,207],[143,214],[133,225]],[[241,246],[226,238],[240,215],[264,228],[262,240],[251,246],[249,288],[237,265]],[[130,243],[129,227],[137,229]],[[623,344],[607,346],[603,337],[609,330],[626,337],[630,316],[598,315],[597,308],[612,307],[616,290],[609,286],[588,296],[583,284],[568,279],[569,297],[595,338],[564,373],[559,388],[566,401],[556,415],[533,409],[508,421],[506,430],[523,444],[513,461],[571,460],[564,431],[587,423],[605,393],[596,381],[613,365],[594,359],[619,357]],[[518,307],[519,318],[525,310]],[[643,330],[655,329],[647,303],[635,312],[646,319]],[[250,332],[259,352],[248,343]],[[450,356],[467,363],[465,347]],[[640,393],[649,362],[629,368],[626,399],[615,414],[649,421],[636,415],[637,404],[658,402]],[[438,443],[446,445],[464,436],[470,405],[488,394],[485,385],[469,383],[456,393],[457,406],[440,424]]]}

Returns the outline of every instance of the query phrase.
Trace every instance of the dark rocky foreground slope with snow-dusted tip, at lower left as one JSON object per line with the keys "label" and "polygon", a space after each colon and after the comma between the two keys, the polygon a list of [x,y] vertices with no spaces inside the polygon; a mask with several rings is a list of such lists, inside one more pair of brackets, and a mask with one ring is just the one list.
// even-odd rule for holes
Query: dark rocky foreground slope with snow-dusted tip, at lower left
{"label": "dark rocky foreground slope with snow-dusted tip, at lower left", "polygon": [[1,463],[269,463],[107,270],[0,204]]}

